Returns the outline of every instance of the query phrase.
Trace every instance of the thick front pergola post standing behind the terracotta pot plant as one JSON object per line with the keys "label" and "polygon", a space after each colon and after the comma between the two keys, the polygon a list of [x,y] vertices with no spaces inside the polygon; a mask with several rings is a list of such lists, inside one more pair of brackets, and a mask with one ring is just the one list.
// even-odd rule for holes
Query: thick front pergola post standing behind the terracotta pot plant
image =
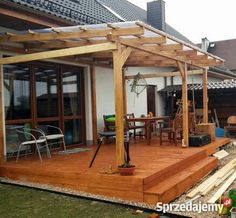
{"label": "thick front pergola post standing behind the terracotta pot plant", "polygon": [[121,46],[113,51],[115,114],[116,114],[116,162],[124,164],[124,102]]}

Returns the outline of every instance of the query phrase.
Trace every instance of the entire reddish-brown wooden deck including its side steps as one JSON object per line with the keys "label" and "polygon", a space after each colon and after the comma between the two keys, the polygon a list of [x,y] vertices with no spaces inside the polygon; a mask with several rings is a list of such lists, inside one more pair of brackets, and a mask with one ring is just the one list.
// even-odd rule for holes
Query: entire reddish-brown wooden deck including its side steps
{"label": "entire reddish-brown wooden deck including its side steps", "polygon": [[150,146],[145,141],[131,142],[132,163],[135,175],[101,174],[102,168],[115,166],[115,145],[102,145],[93,168],[88,168],[94,154],[91,151],[70,155],[45,156],[40,163],[37,157],[20,158],[0,166],[0,176],[67,187],[88,193],[117,197],[125,200],[155,204],[170,202],[184,193],[217,166],[214,153],[229,139],[217,139],[201,148],[181,148],[168,143],[161,147],[156,139]]}

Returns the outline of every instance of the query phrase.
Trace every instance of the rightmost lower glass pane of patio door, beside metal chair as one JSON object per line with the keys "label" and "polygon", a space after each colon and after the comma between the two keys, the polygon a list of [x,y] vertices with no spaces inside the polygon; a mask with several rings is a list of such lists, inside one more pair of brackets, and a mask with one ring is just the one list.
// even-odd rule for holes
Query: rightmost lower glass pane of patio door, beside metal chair
{"label": "rightmost lower glass pane of patio door, beside metal chair", "polygon": [[66,145],[82,143],[81,120],[65,121],[65,142]]}

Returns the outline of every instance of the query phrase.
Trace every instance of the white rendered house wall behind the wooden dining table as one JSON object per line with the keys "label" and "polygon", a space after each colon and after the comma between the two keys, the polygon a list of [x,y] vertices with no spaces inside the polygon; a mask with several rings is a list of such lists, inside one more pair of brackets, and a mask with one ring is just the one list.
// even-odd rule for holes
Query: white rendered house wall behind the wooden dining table
{"label": "white rendered house wall behind the wooden dining table", "polygon": [[[171,72],[173,68],[157,68],[157,67],[129,67],[127,68],[126,75],[150,74],[155,72]],[[96,67],[96,90],[97,90],[97,118],[98,129],[103,128],[103,115],[115,113],[114,103],[114,81],[112,69]],[[155,85],[157,91],[164,88],[164,78],[148,78],[147,84]],[[218,82],[222,79],[209,77],[209,82]],[[134,113],[135,116],[147,114],[147,92],[144,90],[138,97],[130,91],[132,80],[126,81],[126,95],[127,95],[127,113]],[[202,76],[194,75],[189,76],[188,83],[201,83]],[[174,85],[181,84],[181,77],[174,77]],[[170,78],[167,78],[167,85],[171,84]],[[164,115],[164,95],[156,93],[156,114],[158,116]]]}

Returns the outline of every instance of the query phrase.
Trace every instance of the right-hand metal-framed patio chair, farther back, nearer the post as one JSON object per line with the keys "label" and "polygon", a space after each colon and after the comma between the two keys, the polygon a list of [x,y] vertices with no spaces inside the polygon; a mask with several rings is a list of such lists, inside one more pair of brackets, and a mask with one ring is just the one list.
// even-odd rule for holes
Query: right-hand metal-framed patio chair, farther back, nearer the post
{"label": "right-hand metal-framed patio chair, farther back, nearer the post", "polygon": [[[56,131],[57,133],[51,134],[50,129]],[[63,149],[64,151],[66,151],[65,137],[62,130],[59,127],[51,125],[40,125],[37,127],[37,130],[41,131],[45,135],[49,147],[55,144],[62,143]]]}

